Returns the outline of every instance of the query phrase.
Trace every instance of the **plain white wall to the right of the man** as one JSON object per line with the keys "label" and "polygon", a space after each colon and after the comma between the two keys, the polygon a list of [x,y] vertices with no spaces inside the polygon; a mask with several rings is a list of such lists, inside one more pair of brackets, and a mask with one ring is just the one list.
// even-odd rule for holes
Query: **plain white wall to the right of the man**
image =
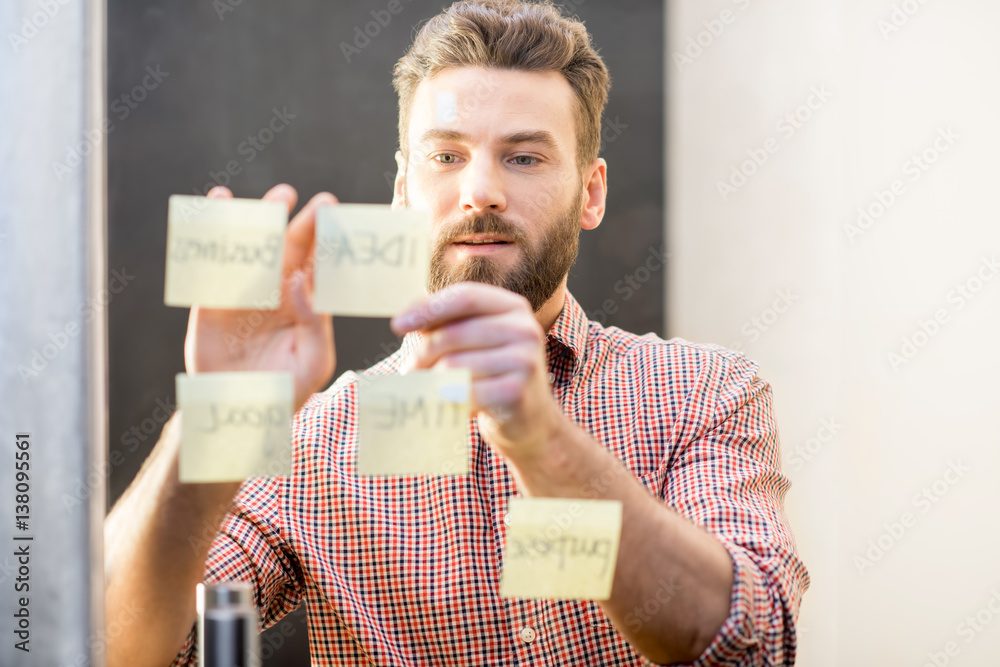
{"label": "plain white wall to the right of the man", "polygon": [[1000,3],[667,5],[669,333],[772,384],[798,664],[997,664]]}

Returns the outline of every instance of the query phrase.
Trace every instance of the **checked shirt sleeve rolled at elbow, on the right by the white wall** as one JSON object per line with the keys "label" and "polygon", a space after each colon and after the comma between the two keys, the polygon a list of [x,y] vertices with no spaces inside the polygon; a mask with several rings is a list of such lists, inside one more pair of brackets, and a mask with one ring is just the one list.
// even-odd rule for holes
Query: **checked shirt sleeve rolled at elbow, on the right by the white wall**
{"label": "checked shirt sleeve rolled at elbow, on the right by the white wall", "polygon": [[[668,504],[713,533],[733,562],[729,617],[693,664],[790,665],[809,575],[784,513],[789,481],[781,473],[771,388],[742,355],[717,354],[721,363],[703,377],[705,392],[692,392],[685,406],[681,423],[692,431],[665,480]],[[703,400],[693,398],[699,393]]]}

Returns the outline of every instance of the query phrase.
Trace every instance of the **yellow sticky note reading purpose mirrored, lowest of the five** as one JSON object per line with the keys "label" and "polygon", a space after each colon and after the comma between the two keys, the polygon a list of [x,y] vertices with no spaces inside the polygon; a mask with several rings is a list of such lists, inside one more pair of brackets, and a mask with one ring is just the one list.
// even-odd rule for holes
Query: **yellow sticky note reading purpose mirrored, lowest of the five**
{"label": "yellow sticky note reading purpose mirrored, lowest of the five", "polygon": [[607,600],[618,560],[617,500],[511,498],[500,595]]}

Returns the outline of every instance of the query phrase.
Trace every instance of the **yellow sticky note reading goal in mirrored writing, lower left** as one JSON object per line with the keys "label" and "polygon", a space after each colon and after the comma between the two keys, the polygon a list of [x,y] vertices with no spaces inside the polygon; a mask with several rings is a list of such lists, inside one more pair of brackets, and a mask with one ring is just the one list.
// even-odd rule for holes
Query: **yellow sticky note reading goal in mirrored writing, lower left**
{"label": "yellow sticky note reading goal in mirrored writing, lower left", "polygon": [[182,482],[291,474],[291,373],[177,375]]}

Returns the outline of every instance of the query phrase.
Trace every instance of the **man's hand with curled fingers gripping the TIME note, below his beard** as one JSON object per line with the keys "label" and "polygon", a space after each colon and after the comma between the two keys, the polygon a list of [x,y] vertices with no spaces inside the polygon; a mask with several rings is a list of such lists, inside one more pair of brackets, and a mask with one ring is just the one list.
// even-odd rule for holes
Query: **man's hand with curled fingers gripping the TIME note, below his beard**
{"label": "man's hand with curled fingers gripping the TIME note, below his beard", "polygon": [[500,287],[450,285],[392,320],[421,331],[413,369],[468,368],[483,437],[509,461],[533,465],[566,417],[552,396],[545,332],[524,297]]}

